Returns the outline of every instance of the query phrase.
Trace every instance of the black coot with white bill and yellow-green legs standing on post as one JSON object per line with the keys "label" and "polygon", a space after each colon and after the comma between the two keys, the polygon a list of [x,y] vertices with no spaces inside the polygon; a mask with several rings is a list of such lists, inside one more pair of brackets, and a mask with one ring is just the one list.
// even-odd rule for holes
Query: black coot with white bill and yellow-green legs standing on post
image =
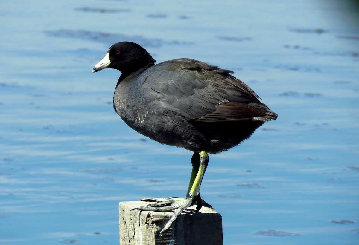
{"label": "black coot with white bill and yellow-green legs standing on post", "polygon": [[92,72],[105,68],[121,71],[113,107],[137,132],[162,144],[193,151],[192,173],[186,198],[150,198],[144,211],[177,209],[162,229],[197,203],[202,207],[200,186],[208,165],[207,153],[219,153],[247,139],[264,122],[276,119],[246,84],[220,69],[188,58],[155,65],[139,44],[113,44]]}

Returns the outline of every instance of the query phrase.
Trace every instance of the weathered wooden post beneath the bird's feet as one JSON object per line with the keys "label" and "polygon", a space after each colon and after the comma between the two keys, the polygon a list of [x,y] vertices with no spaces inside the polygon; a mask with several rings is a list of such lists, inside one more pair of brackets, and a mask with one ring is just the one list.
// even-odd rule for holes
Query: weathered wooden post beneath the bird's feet
{"label": "weathered wooden post beneath the bird's feet", "polygon": [[151,202],[120,202],[120,245],[222,245],[222,216],[213,208],[192,206],[170,228],[159,232],[173,212],[132,210]]}

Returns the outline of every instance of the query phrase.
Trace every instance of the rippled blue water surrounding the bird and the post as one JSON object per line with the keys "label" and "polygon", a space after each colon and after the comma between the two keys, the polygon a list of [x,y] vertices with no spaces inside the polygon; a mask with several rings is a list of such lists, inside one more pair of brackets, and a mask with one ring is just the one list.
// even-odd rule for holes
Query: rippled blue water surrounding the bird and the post
{"label": "rippled blue water surrounding the bird and the post", "polygon": [[211,155],[225,244],[359,243],[359,19],[350,1],[7,1],[0,35],[0,243],[118,244],[118,202],[184,196],[191,152],[130,129],[119,41],[235,71],[275,121]]}

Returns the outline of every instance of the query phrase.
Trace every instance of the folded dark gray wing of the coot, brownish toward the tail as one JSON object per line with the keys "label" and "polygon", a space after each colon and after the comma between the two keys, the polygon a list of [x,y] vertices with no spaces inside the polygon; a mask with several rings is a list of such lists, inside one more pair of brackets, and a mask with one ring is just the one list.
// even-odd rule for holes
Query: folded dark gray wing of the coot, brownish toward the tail
{"label": "folded dark gray wing of the coot, brownish toward the tail", "polygon": [[[258,95],[232,71],[204,62],[177,59],[159,63],[156,71],[144,72],[143,86],[157,94],[158,108],[176,109],[189,121],[270,121],[276,118]],[[160,68],[160,69],[158,69]]]}

